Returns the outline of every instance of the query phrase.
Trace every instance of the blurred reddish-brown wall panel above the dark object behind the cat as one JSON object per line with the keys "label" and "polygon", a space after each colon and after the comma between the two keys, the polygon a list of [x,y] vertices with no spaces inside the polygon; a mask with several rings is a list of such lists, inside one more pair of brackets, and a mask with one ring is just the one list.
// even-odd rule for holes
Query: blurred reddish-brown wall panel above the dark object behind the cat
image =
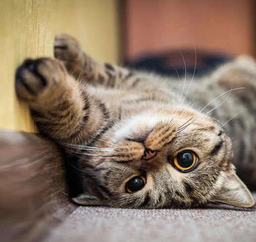
{"label": "blurred reddish-brown wall panel above the dark object behind the cat", "polygon": [[169,48],[255,55],[255,0],[126,0],[129,60]]}

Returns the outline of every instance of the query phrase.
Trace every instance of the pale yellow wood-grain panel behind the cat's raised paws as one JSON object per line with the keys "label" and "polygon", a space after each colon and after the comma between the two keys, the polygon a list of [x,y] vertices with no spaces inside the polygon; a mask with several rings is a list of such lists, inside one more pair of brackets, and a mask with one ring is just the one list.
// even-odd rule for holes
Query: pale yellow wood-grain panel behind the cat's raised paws
{"label": "pale yellow wood-grain panel behind the cat's raised paws", "polygon": [[117,11],[117,0],[0,0],[0,128],[36,130],[16,100],[15,69],[27,57],[52,57],[56,34],[70,34],[92,56],[118,62]]}

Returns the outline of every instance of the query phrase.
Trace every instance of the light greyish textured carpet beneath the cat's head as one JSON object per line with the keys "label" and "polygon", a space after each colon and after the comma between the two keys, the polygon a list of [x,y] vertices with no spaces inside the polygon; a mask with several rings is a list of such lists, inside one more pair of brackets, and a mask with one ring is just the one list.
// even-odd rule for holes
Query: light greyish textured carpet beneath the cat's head
{"label": "light greyish textured carpet beneath the cat's head", "polygon": [[46,241],[256,242],[256,212],[79,206]]}

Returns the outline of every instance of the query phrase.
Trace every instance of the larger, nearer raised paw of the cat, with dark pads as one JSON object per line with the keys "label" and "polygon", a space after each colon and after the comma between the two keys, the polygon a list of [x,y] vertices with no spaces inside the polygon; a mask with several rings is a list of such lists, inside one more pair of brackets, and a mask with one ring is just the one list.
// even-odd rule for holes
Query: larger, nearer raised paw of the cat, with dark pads
{"label": "larger, nearer raised paw of the cat, with dark pads", "polygon": [[66,79],[65,67],[51,58],[27,59],[16,70],[15,90],[20,99],[48,99]]}

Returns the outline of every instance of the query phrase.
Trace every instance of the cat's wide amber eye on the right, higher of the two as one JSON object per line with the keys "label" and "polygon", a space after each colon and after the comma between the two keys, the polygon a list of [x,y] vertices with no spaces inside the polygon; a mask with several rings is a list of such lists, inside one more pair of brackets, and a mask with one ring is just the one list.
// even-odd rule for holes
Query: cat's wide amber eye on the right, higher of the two
{"label": "cat's wide amber eye on the right, higher of the two", "polygon": [[173,163],[181,172],[188,172],[196,168],[198,158],[191,151],[183,151],[174,158]]}

